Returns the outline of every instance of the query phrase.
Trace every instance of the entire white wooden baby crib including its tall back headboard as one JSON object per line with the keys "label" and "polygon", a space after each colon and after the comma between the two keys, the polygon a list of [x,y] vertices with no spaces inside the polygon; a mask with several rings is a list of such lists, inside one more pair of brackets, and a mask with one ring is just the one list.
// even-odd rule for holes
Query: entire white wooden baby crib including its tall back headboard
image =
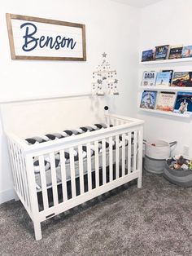
{"label": "entire white wooden baby crib including its tall back headboard", "polygon": [[[63,115],[60,108],[61,104],[65,107],[68,106],[68,109],[70,109],[70,106],[75,108],[74,104],[77,104],[78,109],[81,108],[81,111],[76,108],[76,113],[71,108],[71,117],[67,118],[68,114],[66,114],[66,117],[62,116],[63,121],[61,123],[58,121],[59,125],[57,126],[56,120],[61,118],[58,115]],[[50,115],[55,112],[55,106],[58,108],[59,105],[59,113],[55,117],[51,116],[51,118],[55,118],[54,120],[51,119],[51,121],[54,121],[54,125],[47,121],[46,117],[50,117],[48,114],[44,120],[41,120],[42,109],[45,113],[49,105],[51,105],[49,109],[52,111]],[[17,113],[17,118],[14,120],[15,113]],[[74,113],[78,117],[74,116]],[[26,120],[27,114],[31,114],[28,124]],[[87,96],[78,97],[78,99],[76,97],[68,100],[59,99],[59,101],[51,99],[50,102],[49,100],[44,100],[36,102],[36,104],[34,102],[16,104],[16,108],[15,106],[14,108],[9,106],[8,111],[4,112],[4,117],[6,117],[4,118],[7,124],[5,129],[9,144],[15,192],[33,220],[36,240],[41,239],[42,221],[133,179],[137,179],[137,188],[142,187],[143,121],[108,113],[104,114],[103,104],[97,102],[93,105],[93,99]],[[75,123],[74,118],[76,119]],[[45,126],[42,127],[39,124],[39,129],[37,129],[33,121],[40,120],[41,124]],[[24,138],[27,135],[39,135],[47,130],[57,131],[69,126],[73,128],[74,125],[77,127],[90,123],[94,124],[98,121],[103,121],[113,126],[45,143],[28,145],[24,142]],[[13,128],[13,124],[16,127],[15,131],[10,129],[11,127]],[[20,127],[21,125],[25,127]],[[20,130],[22,130],[21,133],[19,132]],[[122,140],[121,146],[118,143],[120,138]],[[112,146],[114,141],[116,142],[115,149]],[[102,152],[98,150],[98,142],[102,143]],[[106,142],[109,143],[108,150],[106,149]],[[91,157],[90,147],[93,145],[94,157]],[[82,156],[83,146],[86,146],[87,149],[87,157],[85,159]],[[73,149],[78,152],[78,161],[74,160]],[[69,152],[70,156],[68,163],[65,161],[64,152],[66,151]],[[58,152],[60,156],[59,170],[55,167],[55,153]],[[50,159],[52,181],[49,188],[47,187],[44,164],[47,156]],[[33,157],[37,157],[39,160],[41,179],[41,188],[39,190],[37,190],[37,177],[34,172]],[[70,170],[70,179],[67,179],[66,176],[67,169]],[[76,172],[76,170],[78,171]],[[59,183],[58,172],[60,174]],[[50,200],[49,189],[52,200]]]}

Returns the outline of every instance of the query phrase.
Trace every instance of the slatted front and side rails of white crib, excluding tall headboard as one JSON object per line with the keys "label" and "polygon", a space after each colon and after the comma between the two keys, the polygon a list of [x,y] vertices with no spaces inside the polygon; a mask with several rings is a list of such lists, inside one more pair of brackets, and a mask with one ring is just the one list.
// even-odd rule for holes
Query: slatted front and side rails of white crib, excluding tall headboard
{"label": "slatted front and side rails of white crib, excluding tall headboard", "polygon": [[37,145],[8,135],[15,191],[33,219],[37,240],[47,218],[132,179],[141,188],[143,121],[105,118],[113,127]]}

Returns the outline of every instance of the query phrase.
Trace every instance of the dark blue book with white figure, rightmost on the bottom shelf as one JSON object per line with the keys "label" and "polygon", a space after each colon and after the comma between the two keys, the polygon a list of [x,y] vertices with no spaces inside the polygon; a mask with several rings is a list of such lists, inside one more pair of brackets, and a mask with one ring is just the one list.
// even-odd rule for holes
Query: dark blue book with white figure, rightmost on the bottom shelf
{"label": "dark blue book with white figure, rightmost on the bottom shelf", "polygon": [[192,114],[192,92],[178,91],[173,112]]}

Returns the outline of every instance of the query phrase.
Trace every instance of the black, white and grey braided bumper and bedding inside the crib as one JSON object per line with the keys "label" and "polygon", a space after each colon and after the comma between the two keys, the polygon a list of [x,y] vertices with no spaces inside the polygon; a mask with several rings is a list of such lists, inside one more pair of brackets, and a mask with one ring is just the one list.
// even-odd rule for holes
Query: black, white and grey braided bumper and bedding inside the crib
{"label": "black, white and grey braided bumper and bedding inside the crib", "polygon": [[[61,132],[57,132],[57,133],[52,133],[52,134],[47,134],[47,135],[42,135],[42,136],[36,136],[36,137],[32,137],[32,138],[28,138],[25,139],[26,143],[28,143],[28,145],[32,145],[35,143],[44,143],[46,141],[50,141],[50,140],[55,140],[55,139],[62,139],[62,138],[66,138],[69,136],[74,136],[74,135],[80,135],[82,133],[85,132],[91,132],[94,130],[100,130],[100,129],[105,129],[108,126],[107,124],[94,124],[94,125],[90,125],[90,126],[83,126],[80,127],[76,130],[63,130]],[[133,144],[133,137],[132,137],[132,141],[131,143]],[[125,147],[127,147],[128,145],[128,138],[127,136],[125,136]],[[119,141],[118,141],[118,146],[121,152],[121,148],[122,148],[122,137],[119,136]],[[113,164],[115,163],[115,152],[116,152],[116,141],[115,138],[113,138],[112,141],[112,149],[113,149]],[[94,170],[94,166],[95,166],[95,161],[94,161],[94,144],[91,143],[90,144],[90,154],[91,154],[91,166],[92,166],[92,171]],[[102,148],[102,142],[99,141],[98,142],[98,163],[99,163],[99,168],[102,167],[102,152],[103,152],[103,148]],[[87,157],[87,148],[86,146],[82,146],[82,157],[83,157],[83,165],[84,165],[84,173],[86,174],[87,172],[87,161],[86,161],[86,157]],[[78,150],[77,148],[74,148],[73,150],[73,156],[74,156],[74,161],[75,161],[75,174],[76,177],[79,176],[79,170],[78,170],[78,166],[79,166],[79,157],[78,157]],[[64,161],[65,161],[65,166],[66,166],[66,179],[70,180],[71,179],[71,173],[70,173],[70,160],[69,160],[69,152],[65,151],[64,152]],[[45,165],[45,170],[46,170],[46,186],[47,188],[50,188],[52,186],[52,182],[51,182],[51,171],[50,171],[50,157],[44,156],[44,165]],[[107,166],[109,165],[109,143],[106,140],[106,164]],[[34,172],[35,172],[35,179],[36,179],[36,187],[37,187],[37,191],[41,191],[41,178],[40,178],[40,166],[39,166],[39,160],[37,157],[33,157],[33,167],[34,167]],[[55,153],[55,168],[56,168],[56,177],[57,177],[57,183],[61,183],[61,170],[60,170],[60,155],[59,152]]]}

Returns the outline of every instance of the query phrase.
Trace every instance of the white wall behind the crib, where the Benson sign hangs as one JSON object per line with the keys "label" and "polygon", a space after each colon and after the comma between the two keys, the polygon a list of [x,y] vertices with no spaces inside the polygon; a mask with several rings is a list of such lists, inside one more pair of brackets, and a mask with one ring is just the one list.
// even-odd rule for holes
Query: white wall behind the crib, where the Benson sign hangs
{"label": "white wall behind the crib, where the Benson sign hangs", "polygon": [[[11,60],[6,13],[85,24],[87,61]],[[92,72],[106,51],[120,80],[120,96],[111,100],[111,108],[135,116],[138,16],[137,9],[110,0],[1,1],[0,99],[89,92]],[[0,203],[12,197],[6,138],[0,123]]]}

